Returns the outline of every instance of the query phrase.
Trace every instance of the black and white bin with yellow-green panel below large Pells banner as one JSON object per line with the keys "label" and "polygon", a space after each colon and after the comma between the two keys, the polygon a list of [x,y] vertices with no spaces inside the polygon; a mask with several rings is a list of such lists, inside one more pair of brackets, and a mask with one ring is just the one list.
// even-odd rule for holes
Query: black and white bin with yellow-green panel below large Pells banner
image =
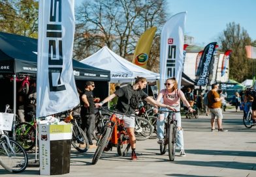
{"label": "black and white bin with yellow-green panel below large Pells banner", "polygon": [[39,124],[40,174],[66,174],[70,169],[72,124]]}

